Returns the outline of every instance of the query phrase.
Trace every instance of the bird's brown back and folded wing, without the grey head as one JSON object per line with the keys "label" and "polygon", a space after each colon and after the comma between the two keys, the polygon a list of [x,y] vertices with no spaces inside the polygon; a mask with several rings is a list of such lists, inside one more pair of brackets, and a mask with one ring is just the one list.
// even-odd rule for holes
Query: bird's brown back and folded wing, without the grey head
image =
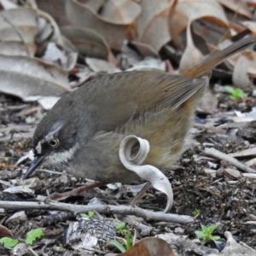
{"label": "bird's brown back and folded wing, without the grey head", "polygon": [[[82,85],[73,98],[79,111],[91,117],[96,131],[113,131],[136,113],[150,108],[176,108],[207,84],[157,70],[113,73]],[[88,120],[90,121],[90,120]]]}

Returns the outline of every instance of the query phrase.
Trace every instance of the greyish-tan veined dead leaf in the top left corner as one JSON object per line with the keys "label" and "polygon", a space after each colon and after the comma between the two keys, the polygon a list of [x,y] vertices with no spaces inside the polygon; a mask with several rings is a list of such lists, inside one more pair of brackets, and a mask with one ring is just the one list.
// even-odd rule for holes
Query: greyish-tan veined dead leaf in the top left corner
{"label": "greyish-tan veined dead leaf in the top left corner", "polygon": [[0,12],[0,54],[28,55],[36,52],[37,14],[29,8]]}

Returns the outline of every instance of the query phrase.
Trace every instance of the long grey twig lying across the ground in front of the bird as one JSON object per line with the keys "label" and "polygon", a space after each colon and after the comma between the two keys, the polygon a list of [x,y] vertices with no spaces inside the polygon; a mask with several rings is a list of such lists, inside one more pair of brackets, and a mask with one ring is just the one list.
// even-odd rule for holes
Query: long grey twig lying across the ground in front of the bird
{"label": "long grey twig lying across the ground in front of the bird", "polygon": [[139,207],[128,206],[111,206],[111,205],[94,205],[94,206],[82,206],[61,203],[58,201],[45,200],[44,202],[35,201],[0,201],[0,208],[3,209],[41,209],[41,210],[57,210],[66,212],[89,212],[96,211],[100,213],[115,213],[122,215],[136,215],[142,217],[145,220],[166,221],[178,224],[187,224],[192,222],[194,218],[187,215],[177,215],[164,212],[150,212]]}

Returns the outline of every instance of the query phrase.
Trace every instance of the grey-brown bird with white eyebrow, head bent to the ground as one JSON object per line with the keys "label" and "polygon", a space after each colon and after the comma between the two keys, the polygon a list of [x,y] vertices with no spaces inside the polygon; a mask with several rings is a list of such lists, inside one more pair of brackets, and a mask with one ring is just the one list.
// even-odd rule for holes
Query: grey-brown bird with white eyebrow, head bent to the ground
{"label": "grey-brown bird with white eyebrow, head bent to the ground", "polygon": [[170,168],[189,148],[195,108],[213,67],[255,43],[242,38],[180,74],[137,70],[102,75],[62,96],[39,122],[34,160],[24,178],[42,164],[102,183],[139,179],[119,160],[119,145],[130,135],[148,140],[143,165]]}

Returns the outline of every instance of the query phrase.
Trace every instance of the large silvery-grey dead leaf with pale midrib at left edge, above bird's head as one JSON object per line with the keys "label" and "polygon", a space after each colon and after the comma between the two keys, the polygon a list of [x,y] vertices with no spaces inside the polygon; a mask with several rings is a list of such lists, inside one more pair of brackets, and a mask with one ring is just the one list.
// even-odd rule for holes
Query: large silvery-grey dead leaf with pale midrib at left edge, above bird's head
{"label": "large silvery-grey dead leaf with pale midrib at left edge, above bird's head", "polygon": [[26,100],[70,90],[67,72],[36,58],[0,55],[0,90]]}

